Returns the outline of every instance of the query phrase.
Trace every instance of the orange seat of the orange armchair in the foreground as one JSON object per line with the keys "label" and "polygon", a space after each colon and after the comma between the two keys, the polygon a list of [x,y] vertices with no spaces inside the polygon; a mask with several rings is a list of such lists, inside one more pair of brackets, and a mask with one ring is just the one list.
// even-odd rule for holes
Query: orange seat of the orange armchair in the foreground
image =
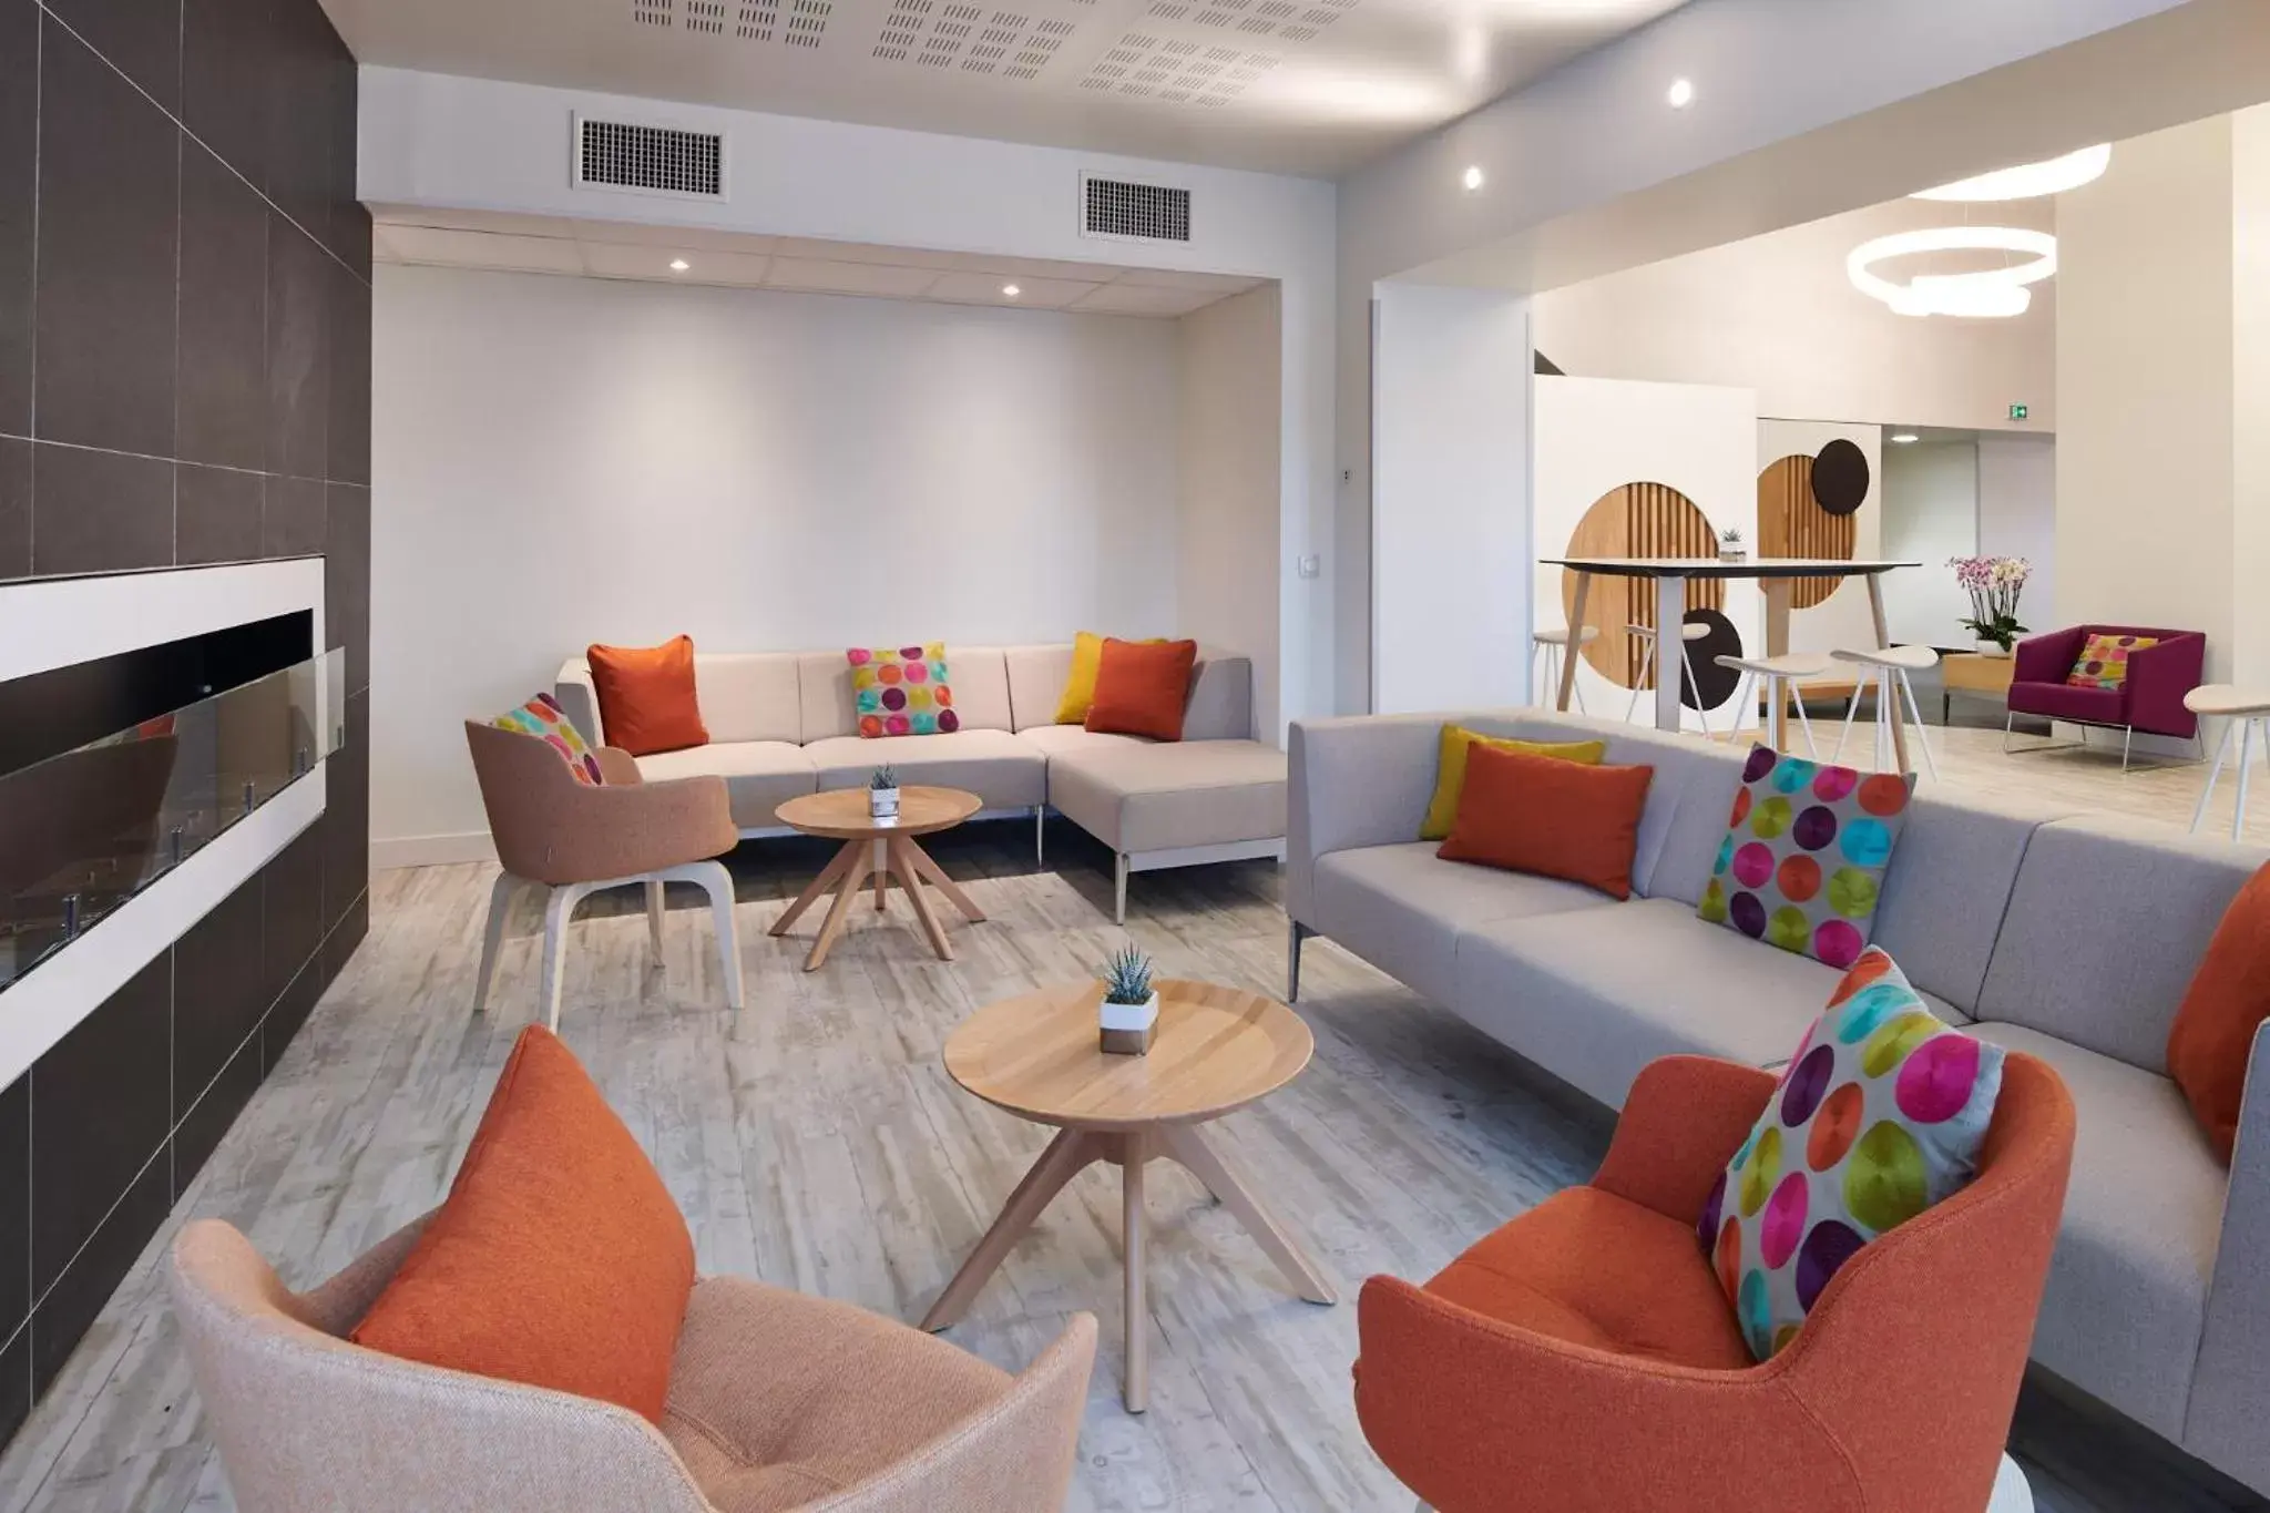
{"label": "orange seat of the orange armchair in the foreground", "polygon": [[1709,1370],[1752,1366],[1693,1225],[1591,1186],[1555,1193],[1482,1236],[1426,1291],[1571,1345]]}

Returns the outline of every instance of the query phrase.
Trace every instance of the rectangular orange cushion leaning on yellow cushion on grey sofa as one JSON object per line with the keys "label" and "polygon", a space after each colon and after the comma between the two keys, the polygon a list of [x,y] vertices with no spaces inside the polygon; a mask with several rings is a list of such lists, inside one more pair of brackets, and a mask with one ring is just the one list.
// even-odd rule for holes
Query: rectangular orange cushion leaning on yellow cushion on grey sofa
{"label": "rectangular orange cushion leaning on yellow cushion on grey sofa", "polygon": [[1630,898],[1639,810],[1653,778],[1653,767],[1584,767],[1476,742],[1457,823],[1435,855]]}

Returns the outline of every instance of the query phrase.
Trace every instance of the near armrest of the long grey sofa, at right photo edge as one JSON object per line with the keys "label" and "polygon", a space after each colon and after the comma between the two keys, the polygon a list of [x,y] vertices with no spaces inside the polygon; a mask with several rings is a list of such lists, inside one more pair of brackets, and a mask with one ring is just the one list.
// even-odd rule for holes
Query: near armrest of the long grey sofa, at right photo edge
{"label": "near armrest of the long grey sofa, at right photo edge", "polygon": [[2184,1449],[2270,1486],[2270,1023],[2254,1032]]}

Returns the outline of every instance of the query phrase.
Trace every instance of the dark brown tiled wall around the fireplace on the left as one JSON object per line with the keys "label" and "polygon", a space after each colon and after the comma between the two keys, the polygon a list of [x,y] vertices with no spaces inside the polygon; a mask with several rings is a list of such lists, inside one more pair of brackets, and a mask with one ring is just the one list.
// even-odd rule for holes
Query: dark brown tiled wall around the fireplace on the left
{"label": "dark brown tiled wall around the fireplace on the left", "polygon": [[370,919],[370,215],[318,0],[0,0],[0,581],[325,556],[322,821],[0,1089],[0,1445]]}

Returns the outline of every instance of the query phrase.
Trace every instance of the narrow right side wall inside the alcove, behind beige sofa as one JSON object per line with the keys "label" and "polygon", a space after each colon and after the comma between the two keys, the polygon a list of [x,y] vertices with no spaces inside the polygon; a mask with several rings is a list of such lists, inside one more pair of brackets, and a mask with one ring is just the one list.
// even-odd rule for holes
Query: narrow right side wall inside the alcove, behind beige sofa
{"label": "narrow right side wall inside the alcove, behind beige sofa", "polygon": [[1176,594],[1180,635],[1253,658],[1253,728],[1278,739],[1278,352],[1276,284],[1180,327]]}

